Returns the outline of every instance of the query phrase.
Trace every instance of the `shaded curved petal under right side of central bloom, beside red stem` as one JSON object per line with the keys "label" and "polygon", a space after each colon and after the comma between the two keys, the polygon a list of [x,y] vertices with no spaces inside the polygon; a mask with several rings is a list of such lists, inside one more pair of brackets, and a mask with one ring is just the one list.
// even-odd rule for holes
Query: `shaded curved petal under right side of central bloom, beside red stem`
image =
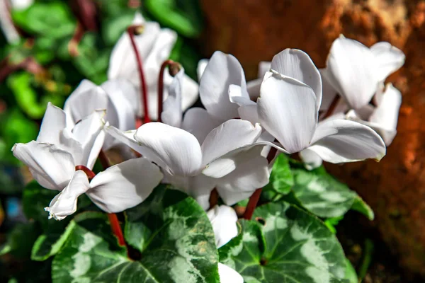
{"label": "shaded curved petal under right side of central bloom, beside red stem", "polygon": [[270,171],[267,158],[261,156],[261,146],[244,151],[234,158],[232,173],[217,180],[217,191],[227,205],[245,200],[259,187],[268,184]]}

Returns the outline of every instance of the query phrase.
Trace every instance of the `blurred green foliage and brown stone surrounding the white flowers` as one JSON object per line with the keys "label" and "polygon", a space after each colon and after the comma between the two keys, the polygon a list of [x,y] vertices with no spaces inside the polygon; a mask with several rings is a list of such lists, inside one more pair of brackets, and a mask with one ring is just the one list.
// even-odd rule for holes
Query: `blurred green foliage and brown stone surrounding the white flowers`
{"label": "blurred green foliage and brown stone surrounding the white flowers", "polygon": [[[363,282],[424,282],[425,1],[419,0],[0,0],[0,244],[25,221],[28,173],[11,147],[35,139],[47,101],[62,107],[81,79],[106,81],[111,50],[135,11],[179,33],[171,59],[193,79],[198,60],[215,50],[237,57],[249,80],[260,61],[285,48],[304,50],[324,67],[340,34],[401,49],[404,67],[388,79],[403,102],[387,156],[325,166],[375,211],[374,221],[348,213],[337,226]],[[28,231],[13,231],[28,233],[26,245],[33,245]],[[0,282],[30,270],[40,273],[30,282],[49,282],[50,272],[42,278],[41,263],[21,250],[0,258]]]}

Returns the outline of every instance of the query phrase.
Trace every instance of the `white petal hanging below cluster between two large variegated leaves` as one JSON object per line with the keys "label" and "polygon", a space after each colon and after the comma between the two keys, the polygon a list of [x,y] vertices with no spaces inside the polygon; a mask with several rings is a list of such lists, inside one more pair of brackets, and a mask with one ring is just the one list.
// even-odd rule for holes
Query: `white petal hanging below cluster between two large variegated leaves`
{"label": "white petal hanging below cluster between two large variegated leaves", "polygon": [[207,212],[212,230],[214,230],[215,245],[217,248],[225,246],[227,242],[237,236],[237,214],[232,207],[216,205]]}

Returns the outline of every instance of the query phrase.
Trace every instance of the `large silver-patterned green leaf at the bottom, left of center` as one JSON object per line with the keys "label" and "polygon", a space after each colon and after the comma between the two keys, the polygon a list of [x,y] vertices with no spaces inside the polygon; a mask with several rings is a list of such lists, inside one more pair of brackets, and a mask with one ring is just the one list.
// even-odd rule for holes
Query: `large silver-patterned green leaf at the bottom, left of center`
{"label": "large silver-patterned green leaf at the bottom, left of center", "polygon": [[212,227],[195,200],[160,186],[127,218],[127,241],[144,247],[140,260],[128,259],[111,241],[105,214],[86,213],[71,221],[52,263],[52,282],[219,282]]}

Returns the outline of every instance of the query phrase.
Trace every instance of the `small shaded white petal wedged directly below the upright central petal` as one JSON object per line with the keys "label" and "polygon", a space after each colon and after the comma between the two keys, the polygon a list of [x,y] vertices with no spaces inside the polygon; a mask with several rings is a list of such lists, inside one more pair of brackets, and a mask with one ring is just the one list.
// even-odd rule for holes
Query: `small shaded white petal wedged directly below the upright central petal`
{"label": "small shaded white petal wedged directly below the upright central petal", "polygon": [[212,129],[221,123],[222,121],[212,117],[207,110],[195,107],[186,111],[181,128],[193,134],[199,144],[202,144]]}

